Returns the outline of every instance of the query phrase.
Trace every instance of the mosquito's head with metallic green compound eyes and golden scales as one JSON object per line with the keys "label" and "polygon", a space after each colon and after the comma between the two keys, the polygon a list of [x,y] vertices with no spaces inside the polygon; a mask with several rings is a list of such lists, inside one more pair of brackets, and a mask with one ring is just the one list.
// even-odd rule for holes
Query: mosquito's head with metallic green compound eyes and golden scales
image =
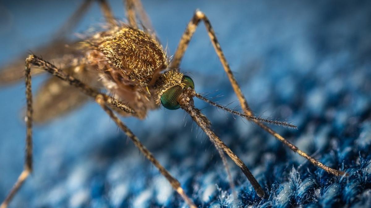
{"label": "mosquito's head with metallic green compound eyes and golden scales", "polygon": [[158,92],[158,103],[169,110],[177,110],[181,103],[193,104],[194,92],[193,80],[180,73],[179,69],[173,69],[162,74],[156,81],[155,88]]}

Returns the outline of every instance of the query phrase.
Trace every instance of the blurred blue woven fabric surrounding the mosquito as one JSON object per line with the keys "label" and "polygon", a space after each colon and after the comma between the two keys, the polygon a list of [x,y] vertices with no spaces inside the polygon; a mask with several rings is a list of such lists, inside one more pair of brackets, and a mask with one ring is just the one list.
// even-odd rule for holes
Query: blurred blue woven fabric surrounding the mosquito
{"label": "blurred blue woven fabric surrounding the mosquito", "polygon": [[[82,3],[1,1],[0,66],[24,59]],[[237,199],[214,146],[182,110],[123,118],[200,207],[369,207],[371,205],[370,1],[146,1],[158,37],[173,54],[194,11],[209,17],[252,110],[289,121],[273,126],[334,177],[251,122],[196,101],[217,135],[245,162],[267,195],[260,199],[228,159]],[[124,5],[110,0],[115,17]],[[93,3],[75,33],[103,23]],[[74,37],[73,34],[71,37]],[[75,37],[76,39],[76,37]],[[37,54],[42,55],[42,54]],[[181,64],[196,91],[238,106],[203,23]],[[48,77],[33,79],[33,92]],[[212,81],[210,81],[212,80]],[[0,89],[0,201],[23,168],[24,81]],[[93,102],[34,128],[34,169],[10,207],[184,207],[158,170]]]}

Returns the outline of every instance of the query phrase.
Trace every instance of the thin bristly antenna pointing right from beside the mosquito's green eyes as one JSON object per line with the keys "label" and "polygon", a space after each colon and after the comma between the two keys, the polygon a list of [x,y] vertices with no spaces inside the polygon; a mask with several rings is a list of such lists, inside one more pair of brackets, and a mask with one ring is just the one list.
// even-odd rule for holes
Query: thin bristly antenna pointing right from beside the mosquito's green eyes
{"label": "thin bristly antenna pointing right from beside the mosquito's green eyes", "polygon": [[231,113],[231,114],[234,114],[234,115],[239,115],[240,117],[247,118],[248,120],[255,120],[255,121],[260,121],[260,122],[263,122],[263,123],[274,124],[274,125],[282,125],[283,127],[288,127],[288,128],[295,128],[295,129],[298,128],[296,125],[292,125],[292,124],[289,124],[289,123],[284,122],[284,121],[272,121],[272,120],[268,120],[268,119],[265,119],[265,118],[250,116],[250,115],[240,113],[238,111],[234,111],[234,110],[232,110],[230,108],[227,108],[223,105],[217,104],[214,101],[208,100],[207,98],[203,97],[202,95],[200,95],[198,93],[195,94],[195,97],[197,97],[200,100],[203,100],[206,103],[209,103],[210,105],[213,105],[217,108],[221,108],[224,111],[227,111],[228,113]]}

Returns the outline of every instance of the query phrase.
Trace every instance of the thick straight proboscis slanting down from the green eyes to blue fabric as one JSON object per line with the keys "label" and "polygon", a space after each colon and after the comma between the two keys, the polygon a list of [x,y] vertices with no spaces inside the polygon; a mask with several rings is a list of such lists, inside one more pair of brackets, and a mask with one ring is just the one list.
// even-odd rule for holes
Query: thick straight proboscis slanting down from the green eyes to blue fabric
{"label": "thick straight proboscis slanting down from the green eyes to blue fabric", "polygon": [[185,110],[192,119],[197,123],[199,127],[202,128],[202,130],[206,133],[206,135],[210,138],[210,141],[213,142],[213,144],[217,147],[219,147],[221,150],[227,153],[227,155],[238,165],[238,167],[241,168],[242,172],[246,175],[247,179],[250,181],[252,187],[255,189],[256,194],[259,197],[264,196],[263,188],[260,186],[260,184],[256,181],[255,177],[251,174],[249,168],[246,167],[246,165],[240,160],[237,155],[235,155],[232,150],[227,147],[226,144],[224,144],[223,141],[220,140],[219,137],[210,129],[210,121],[209,119],[201,113],[201,111],[198,108],[195,108],[193,105],[189,103],[181,102],[181,108]]}

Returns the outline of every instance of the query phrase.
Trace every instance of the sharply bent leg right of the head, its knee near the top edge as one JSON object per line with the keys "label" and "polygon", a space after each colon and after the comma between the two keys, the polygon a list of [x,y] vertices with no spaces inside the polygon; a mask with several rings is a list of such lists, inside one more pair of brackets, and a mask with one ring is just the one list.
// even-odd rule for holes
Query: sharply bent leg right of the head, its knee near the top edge
{"label": "sharply bent leg right of the head, its knee near the top edge", "polygon": [[[207,30],[207,33],[209,34],[211,43],[213,44],[214,49],[215,49],[215,51],[216,51],[216,53],[217,53],[217,55],[220,59],[220,62],[223,65],[224,71],[226,71],[227,76],[229,78],[229,81],[230,81],[230,83],[233,87],[233,90],[236,93],[236,95],[237,95],[237,97],[240,101],[241,108],[244,110],[244,113],[246,115],[254,116],[252,111],[249,108],[249,105],[247,104],[246,98],[242,94],[241,88],[237,84],[236,78],[234,78],[234,76],[233,76],[233,73],[232,73],[232,71],[229,67],[229,64],[226,60],[226,57],[223,54],[223,51],[221,50],[220,44],[219,44],[219,42],[216,38],[213,27],[211,26],[211,23],[210,23],[209,19],[207,19],[206,15],[202,11],[196,11],[193,18],[188,23],[187,28],[185,29],[185,32],[184,32],[183,36],[181,37],[178,48],[177,48],[177,50],[174,54],[174,59],[171,62],[169,68],[178,68],[179,67],[180,61],[183,58],[184,52],[188,47],[188,44],[191,40],[191,37],[193,36],[194,32],[196,31],[198,23],[200,23],[201,20],[203,20],[203,22],[206,26],[206,30]],[[344,175],[345,174],[345,172],[343,172],[343,171],[338,171],[338,170],[332,169],[330,167],[327,167],[326,165],[324,165],[321,162],[317,161],[316,159],[312,158],[311,156],[309,156],[305,152],[299,150],[298,147],[295,147],[295,145],[293,145],[291,142],[289,142],[288,140],[283,138],[277,132],[273,131],[271,128],[267,127],[265,124],[263,124],[263,123],[261,123],[257,120],[252,120],[252,121],[255,122],[257,125],[259,125],[261,128],[263,128],[265,131],[267,131],[269,134],[276,137],[283,144],[287,145],[292,151],[297,152],[299,155],[306,158],[307,160],[312,162],[312,164],[316,165],[317,167],[322,168],[326,172],[329,172],[329,173],[334,174],[334,175]]]}

